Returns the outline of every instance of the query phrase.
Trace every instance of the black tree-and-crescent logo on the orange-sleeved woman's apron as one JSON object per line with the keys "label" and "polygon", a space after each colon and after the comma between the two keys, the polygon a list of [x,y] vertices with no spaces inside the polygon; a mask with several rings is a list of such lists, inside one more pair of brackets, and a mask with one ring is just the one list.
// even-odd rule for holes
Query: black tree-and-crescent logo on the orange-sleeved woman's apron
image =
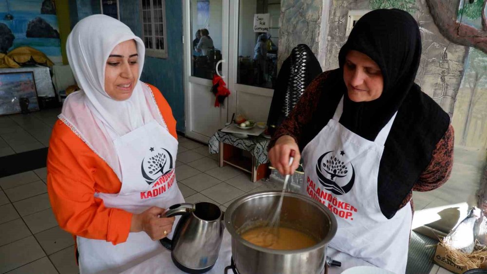
{"label": "black tree-and-crescent logo on the orange-sleeved woman's apron", "polygon": [[173,170],[172,155],[162,147],[157,150],[151,147],[149,150],[150,155],[142,159],[141,170],[146,182],[152,184]]}

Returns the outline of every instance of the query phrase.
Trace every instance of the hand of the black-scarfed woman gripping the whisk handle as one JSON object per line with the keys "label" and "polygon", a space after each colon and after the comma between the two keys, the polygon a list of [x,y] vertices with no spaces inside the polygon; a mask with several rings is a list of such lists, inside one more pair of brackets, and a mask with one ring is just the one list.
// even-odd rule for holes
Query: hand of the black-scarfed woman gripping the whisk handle
{"label": "hand of the black-scarfed woman gripping the whisk handle", "polygon": [[[294,161],[289,166],[289,157],[292,150],[295,151]],[[272,166],[283,175],[293,174],[300,165],[300,148],[294,138],[289,135],[279,137],[269,150],[268,156]]]}

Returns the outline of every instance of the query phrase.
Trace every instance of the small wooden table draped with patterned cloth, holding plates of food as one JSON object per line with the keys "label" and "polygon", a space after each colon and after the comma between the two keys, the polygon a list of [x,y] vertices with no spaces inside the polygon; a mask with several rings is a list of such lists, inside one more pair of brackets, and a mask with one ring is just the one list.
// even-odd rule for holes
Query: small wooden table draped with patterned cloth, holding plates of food
{"label": "small wooden table draped with patterned cloth, holding plates of food", "polygon": [[220,167],[235,166],[251,174],[252,182],[266,178],[270,174],[267,146],[269,139],[261,136],[239,138],[231,133],[217,130],[208,142],[210,153],[219,153]]}

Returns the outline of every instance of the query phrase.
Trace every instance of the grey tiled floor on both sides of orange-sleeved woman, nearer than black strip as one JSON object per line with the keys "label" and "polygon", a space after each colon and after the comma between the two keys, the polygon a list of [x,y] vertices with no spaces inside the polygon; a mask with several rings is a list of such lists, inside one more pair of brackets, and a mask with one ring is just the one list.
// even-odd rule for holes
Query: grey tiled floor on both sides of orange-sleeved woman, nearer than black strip
{"label": "grey tiled floor on both sides of orange-sleeved woman, nearer than black strip", "polygon": [[[282,184],[252,183],[250,174],[218,167],[207,146],[179,137],[176,178],[187,202],[210,201],[223,210],[236,198]],[[78,273],[73,237],[52,213],[46,168],[0,178],[0,273]]]}

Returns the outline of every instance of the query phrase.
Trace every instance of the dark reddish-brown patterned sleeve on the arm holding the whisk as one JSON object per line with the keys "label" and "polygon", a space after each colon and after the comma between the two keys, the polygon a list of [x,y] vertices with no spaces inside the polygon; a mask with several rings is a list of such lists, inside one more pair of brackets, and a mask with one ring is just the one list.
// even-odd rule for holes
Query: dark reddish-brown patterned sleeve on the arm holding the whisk
{"label": "dark reddish-brown patterned sleeve on the arm holding the whisk", "polygon": [[291,111],[289,116],[277,128],[271,138],[268,149],[271,149],[281,136],[289,135],[294,138],[297,144],[300,144],[304,126],[309,124],[313,112],[316,110],[319,101],[321,84],[326,80],[329,72],[318,75],[306,88],[299,102]]}

